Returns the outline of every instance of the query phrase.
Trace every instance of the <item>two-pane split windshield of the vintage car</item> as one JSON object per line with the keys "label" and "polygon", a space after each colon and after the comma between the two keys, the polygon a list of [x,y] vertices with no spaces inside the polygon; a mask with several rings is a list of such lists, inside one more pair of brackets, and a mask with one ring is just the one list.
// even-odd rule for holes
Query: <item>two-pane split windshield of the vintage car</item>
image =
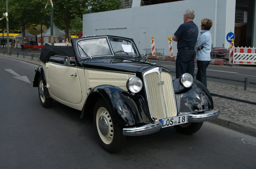
{"label": "two-pane split windshield of the vintage car", "polygon": [[[93,38],[93,39],[84,39],[78,42],[79,54],[81,57],[90,56],[113,56],[114,55],[124,55],[124,56],[138,56],[136,48],[133,43],[129,40],[120,39],[120,38],[109,38],[110,45],[106,38]],[[83,48],[87,54],[80,48]],[[111,48],[113,54],[111,52]]]}

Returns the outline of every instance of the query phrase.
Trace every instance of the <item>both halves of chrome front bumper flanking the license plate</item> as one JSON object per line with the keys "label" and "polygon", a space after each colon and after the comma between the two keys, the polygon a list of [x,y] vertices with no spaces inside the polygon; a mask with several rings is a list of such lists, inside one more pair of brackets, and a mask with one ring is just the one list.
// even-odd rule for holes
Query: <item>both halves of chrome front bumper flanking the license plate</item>
{"label": "both halves of chrome front bumper flanking the license plate", "polygon": [[[214,118],[217,118],[220,114],[220,110],[216,109],[214,111],[203,113],[203,114],[196,114],[190,113],[188,116],[188,122],[199,123],[204,121],[209,121]],[[157,121],[153,124],[146,124],[140,127],[129,127],[123,129],[123,135],[127,136],[140,136],[140,135],[148,135],[154,132],[160,131],[162,128],[160,121]]]}

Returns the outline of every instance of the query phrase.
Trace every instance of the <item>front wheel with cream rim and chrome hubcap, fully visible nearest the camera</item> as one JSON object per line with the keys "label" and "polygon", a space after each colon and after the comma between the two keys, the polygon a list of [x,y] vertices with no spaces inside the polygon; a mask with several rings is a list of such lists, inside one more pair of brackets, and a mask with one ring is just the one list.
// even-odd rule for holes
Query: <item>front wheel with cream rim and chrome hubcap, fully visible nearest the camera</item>
{"label": "front wheel with cream rim and chrome hubcap, fully visible nearest the camera", "polygon": [[122,127],[116,123],[113,112],[104,99],[95,104],[93,123],[101,146],[107,152],[118,152],[125,144],[125,135],[122,134]]}

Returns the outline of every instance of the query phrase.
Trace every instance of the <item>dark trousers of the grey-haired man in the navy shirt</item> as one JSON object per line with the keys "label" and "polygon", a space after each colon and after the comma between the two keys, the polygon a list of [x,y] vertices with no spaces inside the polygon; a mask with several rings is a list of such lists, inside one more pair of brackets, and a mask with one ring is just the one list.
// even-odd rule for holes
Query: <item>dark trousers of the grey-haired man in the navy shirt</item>
{"label": "dark trousers of the grey-haired man in the navy shirt", "polygon": [[179,78],[183,73],[190,73],[194,78],[195,55],[196,52],[194,48],[178,49],[176,58],[176,78]]}

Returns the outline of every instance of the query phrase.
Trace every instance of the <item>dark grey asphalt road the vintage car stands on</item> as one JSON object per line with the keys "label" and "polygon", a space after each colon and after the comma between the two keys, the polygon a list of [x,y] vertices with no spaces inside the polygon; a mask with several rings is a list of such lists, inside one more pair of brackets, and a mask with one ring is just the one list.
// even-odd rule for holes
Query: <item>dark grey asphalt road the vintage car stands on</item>
{"label": "dark grey asphalt road the vintage car stands on", "polygon": [[[0,168],[254,168],[256,138],[204,123],[192,136],[166,128],[128,137],[118,154],[96,141],[90,120],[56,101],[41,107],[35,65],[0,57]],[[31,84],[4,69],[27,76]]]}

